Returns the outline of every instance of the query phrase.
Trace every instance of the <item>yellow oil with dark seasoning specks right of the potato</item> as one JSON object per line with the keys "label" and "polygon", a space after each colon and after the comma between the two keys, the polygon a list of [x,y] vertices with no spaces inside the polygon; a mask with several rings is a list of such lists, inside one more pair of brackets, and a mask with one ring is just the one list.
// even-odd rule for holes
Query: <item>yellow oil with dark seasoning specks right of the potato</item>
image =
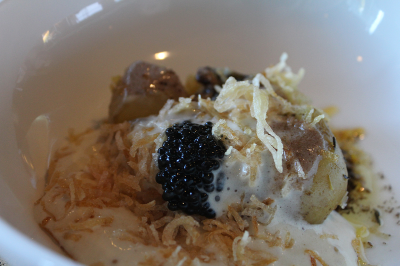
{"label": "yellow oil with dark seasoning specks right of the potato", "polygon": [[390,219],[400,226],[400,204],[395,200],[391,185],[384,184],[384,175],[371,174],[374,173],[372,159],[357,147],[357,142],[363,139],[363,130],[340,130],[334,134],[343,151],[348,171],[347,205],[336,211],[350,222],[363,226],[357,229],[357,235],[370,233],[361,238],[365,249],[385,246],[391,235],[382,232],[381,226]]}

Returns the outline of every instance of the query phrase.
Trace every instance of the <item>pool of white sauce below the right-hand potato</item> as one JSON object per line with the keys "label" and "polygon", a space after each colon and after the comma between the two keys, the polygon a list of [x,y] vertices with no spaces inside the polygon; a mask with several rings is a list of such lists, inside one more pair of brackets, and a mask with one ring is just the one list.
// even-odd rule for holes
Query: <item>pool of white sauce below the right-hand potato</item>
{"label": "pool of white sauce below the right-hand potato", "polygon": [[[329,266],[358,265],[357,256],[351,246],[351,241],[355,238],[354,229],[338,213],[333,211],[320,225],[309,225],[304,221],[290,219],[284,212],[279,212],[279,209],[271,224],[267,227],[259,226],[258,230],[267,230],[272,234],[280,231],[279,236],[282,239],[289,232],[294,245],[285,250],[280,247],[269,248],[268,252],[278,258],[272,266],[311,265],[310,256],[305,250],[315,251]],[[337,239],[321,238],[323,235],[334,235]],[[263,241],[256,240],[248,247],[261,247],[262,243]]]}

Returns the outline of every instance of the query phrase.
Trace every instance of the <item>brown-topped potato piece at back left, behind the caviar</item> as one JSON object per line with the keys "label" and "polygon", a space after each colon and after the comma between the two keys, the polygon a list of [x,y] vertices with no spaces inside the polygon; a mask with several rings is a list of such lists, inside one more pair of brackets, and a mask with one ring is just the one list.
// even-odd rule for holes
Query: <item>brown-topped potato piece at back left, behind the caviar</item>
{"label": "brown-topped potato piece at back left, behind the caviar", "polygon": [[188,95],[172,70],[136,61],[112,87],[108,120],[120,123],[157,114],[167,99],[179,97]]}

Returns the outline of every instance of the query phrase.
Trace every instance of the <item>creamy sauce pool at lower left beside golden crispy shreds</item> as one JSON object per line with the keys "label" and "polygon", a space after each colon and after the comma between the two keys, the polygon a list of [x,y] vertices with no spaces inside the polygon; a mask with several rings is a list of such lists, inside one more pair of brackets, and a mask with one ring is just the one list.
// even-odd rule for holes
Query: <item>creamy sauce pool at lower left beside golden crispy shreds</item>
{"label": "creamy sauce pool at lower left beside golden crispy shreds", "polygon": [[[68,227],[74,220],[80,218],[87,207],[75,207],[62,222],[50,220],[46,228],[51,231],[53,237],[60,246],[70,254],[73,259],[91,265],[103,263],[105,266],[135,265],[144,261],[147,257],[160,257],[159,248],[144,246],[140,243],[129,241],[133,239],[131,232],[138,233],[139,220],[126,208],[95,209],[94,218],[112,217],[109,226],[95,226],[90,228],[92,232],[79,231],[74,233],[80,236],[79,240],[65,239],[65,231],[57,230]],[[43,215],[45,215],[43,213]],[[43,217],[44,219],[45,217]]]}

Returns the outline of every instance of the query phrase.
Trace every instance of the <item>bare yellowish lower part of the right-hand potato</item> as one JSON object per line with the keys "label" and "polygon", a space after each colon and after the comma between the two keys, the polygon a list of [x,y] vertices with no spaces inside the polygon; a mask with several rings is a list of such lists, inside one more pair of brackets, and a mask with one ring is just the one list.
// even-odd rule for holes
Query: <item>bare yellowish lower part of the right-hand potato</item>
{"label": "bare yellowish lower part of the right-hand potato", "polygon": [[[330,133],[331,134],[331,133]],[[347,169],[338,146],[334,149],[336,158],[322,154],[312,185],[301,196],[301,210],[305,221],[321,224],[336,209],[347,189]]]}

